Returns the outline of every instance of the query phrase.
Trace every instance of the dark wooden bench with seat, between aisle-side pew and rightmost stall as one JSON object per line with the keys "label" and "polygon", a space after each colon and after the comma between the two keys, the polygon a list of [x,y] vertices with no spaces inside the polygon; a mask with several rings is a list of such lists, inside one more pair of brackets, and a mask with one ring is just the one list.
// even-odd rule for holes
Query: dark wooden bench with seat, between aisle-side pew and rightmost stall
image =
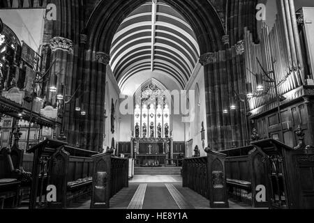
{"label": "dark wooden bench with seat, between aisle-side pew and rightmost stall", "polygon": [[267,155],[255,146],[232,148],[220,151],[227,155],[225,170],[227,190],[230,197],[248,203],[255,208],[268,207],[268,202],[257,202],[255,199],[257,185],[267,189]]}

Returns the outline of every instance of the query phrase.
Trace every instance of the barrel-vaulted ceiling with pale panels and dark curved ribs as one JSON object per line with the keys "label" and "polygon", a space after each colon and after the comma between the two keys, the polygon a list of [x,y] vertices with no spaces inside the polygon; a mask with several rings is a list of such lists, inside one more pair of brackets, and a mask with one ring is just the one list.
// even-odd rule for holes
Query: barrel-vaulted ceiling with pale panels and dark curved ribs
{"label": "barrel-vaulted ceiling with pale panels and dark curved ribs", "polygon": [[171,75],[186,86],[200,56],[195,34],[184,17],[165,3],[147,2],[133,11],[117,30],[110,65],[122,86],[142,71]]}

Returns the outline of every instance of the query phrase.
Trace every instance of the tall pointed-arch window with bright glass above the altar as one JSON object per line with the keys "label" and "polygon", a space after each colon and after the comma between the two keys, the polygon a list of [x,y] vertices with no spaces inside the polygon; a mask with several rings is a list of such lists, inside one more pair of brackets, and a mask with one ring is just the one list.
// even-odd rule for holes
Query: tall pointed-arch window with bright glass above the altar
{"label": "tall pointed-arch window with bright glass above the altar", "polygon": [[170,137],[170,109],[165,92],[155,84],[144,86],[135,95],[134,132],[136,138]]}

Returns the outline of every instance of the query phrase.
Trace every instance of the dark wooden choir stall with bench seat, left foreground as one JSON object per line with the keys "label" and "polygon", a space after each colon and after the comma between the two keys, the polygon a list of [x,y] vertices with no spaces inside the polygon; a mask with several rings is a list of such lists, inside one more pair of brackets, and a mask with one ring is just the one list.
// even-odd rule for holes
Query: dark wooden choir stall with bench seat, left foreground
{"label": "dark wooden choir stall with bench seat, left foreground", "polygon": [[[27,151],[33,153],[33,183],[29,208],[67,208],[71,201],[91,192],[96,152],[47,139]],[[57,188],[57,202],[45,198],[47,185]]]}

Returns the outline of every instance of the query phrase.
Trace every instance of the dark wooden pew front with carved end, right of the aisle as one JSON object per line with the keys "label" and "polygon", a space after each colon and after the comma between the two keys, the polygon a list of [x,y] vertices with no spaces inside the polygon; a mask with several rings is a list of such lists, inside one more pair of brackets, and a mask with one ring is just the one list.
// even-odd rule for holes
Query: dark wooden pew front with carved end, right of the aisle
{"label": "dark wooden pew front with carved end, right of the aisle", "polygon": [[228,208],[225,155],[207,151],[207,157],[183,160],[182,185],[209,199],[211,208]]}

